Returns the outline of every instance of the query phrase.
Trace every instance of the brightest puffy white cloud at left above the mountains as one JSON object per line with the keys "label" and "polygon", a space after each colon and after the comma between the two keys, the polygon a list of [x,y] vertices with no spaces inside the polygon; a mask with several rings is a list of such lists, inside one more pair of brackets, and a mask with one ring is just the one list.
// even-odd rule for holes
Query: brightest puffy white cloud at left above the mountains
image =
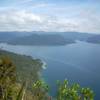
{"label": "brightest puffy white cloud at left above the mountains", "polygon": [[38,15],[26,11],[9,11],[0,14],[0,30],[1,31],[31,31],[36,25],[41,23]]}

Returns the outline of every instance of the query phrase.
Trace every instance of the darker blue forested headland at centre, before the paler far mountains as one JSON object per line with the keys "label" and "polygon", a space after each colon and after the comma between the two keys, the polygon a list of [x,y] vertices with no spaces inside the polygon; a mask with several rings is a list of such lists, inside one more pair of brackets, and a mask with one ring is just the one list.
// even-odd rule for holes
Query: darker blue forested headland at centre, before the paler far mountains
{"label": "darker blue forested headland at centre, before the paler far mountains", "polygon": [[32,34],[30,36],[18,37],[9,41],[9,44],[19,45],[66,45],[73,43],[59,34]]}

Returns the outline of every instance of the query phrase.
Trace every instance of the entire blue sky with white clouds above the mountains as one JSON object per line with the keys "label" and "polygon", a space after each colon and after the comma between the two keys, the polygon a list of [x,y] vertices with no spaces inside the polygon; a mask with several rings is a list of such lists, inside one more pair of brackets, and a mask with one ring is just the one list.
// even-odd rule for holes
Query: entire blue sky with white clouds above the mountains
{"label": "entire blue sky with white clouds above the mountains", "polygon": [[100,0],[0,0],[0,31],[100,34]]}

